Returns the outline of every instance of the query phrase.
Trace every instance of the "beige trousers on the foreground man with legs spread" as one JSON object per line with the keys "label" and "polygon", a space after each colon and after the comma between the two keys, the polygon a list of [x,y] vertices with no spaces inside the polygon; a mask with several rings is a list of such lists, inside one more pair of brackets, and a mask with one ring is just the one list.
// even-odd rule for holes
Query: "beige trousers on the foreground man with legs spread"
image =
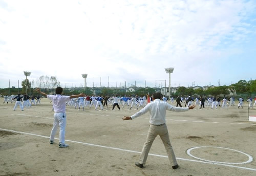
{"label": "beige trousers on the foreground man with legs spread", "polygon": [[140,164],[146,163],[148,152],[150,152],[150,148],[158,135],[160,136],[163,142],[163,145],[167,152],[167,156],[170,161],[170,165],[172,166],[177,165],[176,157],[174,155],[174,150],[172,145],[170,144],[170,139],[169,139],[169,134],[168,134],[168,129],[166,124],[162,126],[150,125],[150,129],[148,129],[148,133],[147,133],[146,142],[143,145],[143,149],[140,155],[139,163]]}

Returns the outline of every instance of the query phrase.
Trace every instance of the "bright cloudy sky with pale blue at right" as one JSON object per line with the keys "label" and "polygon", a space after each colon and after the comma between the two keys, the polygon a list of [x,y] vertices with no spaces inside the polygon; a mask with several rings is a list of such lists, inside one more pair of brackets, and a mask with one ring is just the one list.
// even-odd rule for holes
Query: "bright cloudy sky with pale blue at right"
{"label": "bright cloudy sky with pale blue at right", "polygon": [[[256,79],[256,1],[0,0],[0,87],[230,85]],[[10,83],[9,83],[10,82]],[[161,84],[161,85],[160,85]]]}

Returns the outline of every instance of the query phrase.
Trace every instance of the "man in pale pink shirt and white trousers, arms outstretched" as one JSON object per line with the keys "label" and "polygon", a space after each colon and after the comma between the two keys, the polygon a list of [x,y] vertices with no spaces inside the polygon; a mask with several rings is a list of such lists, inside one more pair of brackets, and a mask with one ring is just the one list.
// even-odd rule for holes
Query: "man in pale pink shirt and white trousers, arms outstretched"
{"label": "man in pale pink shirt and white trousers, arms outstretched", "polygon": [[68,147],[69,145],[65,144],[65,128],[66,128],[66,101],[70,100],[71,98],[78,98],[84,97],[84,94],[79,95],[71,95],[71,96],[61,96],[63,89],[61,87],[56,88],[56,95],[47,95],[44,92],[41,92],[40,89],[36,88],[36,91],[41,95],[46,96],[50,100],[52,100],[53,110],[54,110],[54,122],[50,136],[50,144],[54,143],[54,137],[56,131],[59,126],[59,147],[64,148]]}

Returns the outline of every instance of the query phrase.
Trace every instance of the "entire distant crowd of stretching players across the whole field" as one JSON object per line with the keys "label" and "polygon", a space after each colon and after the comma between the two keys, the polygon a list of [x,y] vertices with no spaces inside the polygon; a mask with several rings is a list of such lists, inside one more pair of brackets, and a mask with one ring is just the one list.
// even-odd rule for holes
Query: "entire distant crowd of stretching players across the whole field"
{"label": "entire distant crowd of stretching players across the whole field", "polygon": [[[15,111],[16,107],[19,105],[20,109],[23,111],[24,107],[31,107],[32,104],[37,105],[40,104],[41,96],[40,95],[5,95],[4,96],[4,104],[5,103],[15,103],[13,110]],[[238,100],[238,108],[243,108],[243,104],[245,103],[244,98],[240,97]],[[138,109],[138,107],[144,107],[148,102],[152,102],[152,96],[144,95],[144,96],[95,96],[95,95],[85,95],[84,97],[78,97],[78,98],[72,98],[66,102],[66,105],[68,107],[74,107],[78,110],[84,109],[86,107],[93,108],[97,110],[100,108],[103,110],[104,108],[109,109],[109,106],[111,106],[112,110],[115,109],[115,106],[117,106],[118,110],[121,108],[127,107],[128,109]],[[162,98],[162,101],[167,102],[168,99],[166,97]],[[254,98],[254,104],[253,99],[248,97],[246,102],[248,103],[249,108],[253,108],[253,106],[256,105],[256,97]],[[174,98],[171,97],[169,100],[170,104],[174,103]],[[182,103],[185,104],[184,107],[189,107],[190,105],[198,105],[199,109],[205,109],[205,108],[211,108],[211,109],[217,109],[220,108],[228,108],[231,106],[235,106],[235,99],[233,97],[181,97],[178,96],[176,98],[176,107],[180,106],[182,107]],[[121,106],[121,107],[120,107]]]}

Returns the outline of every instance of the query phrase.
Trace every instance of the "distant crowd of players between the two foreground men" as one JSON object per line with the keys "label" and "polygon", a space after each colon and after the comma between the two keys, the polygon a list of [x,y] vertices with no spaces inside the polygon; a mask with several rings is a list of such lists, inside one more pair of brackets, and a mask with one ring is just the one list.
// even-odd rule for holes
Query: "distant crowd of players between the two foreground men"
{"label": "distant crowd of players between the two foreground men", "polygon": [[[89,96],[86,95],[85,97],[78,97],[78,98],[72,98],[67,102],[67,105],[69,107],[73,107],[76,108],[78,106],[78,110],[80,110],[80,108],[82,108],[82,110],[84,111],[85,107],[89,107],[91,108],[92,105],[94,105],[95,110],[97,110],[97,107],[100,107],[101,110],[103,110],[103,108],[106,107],[108,108],[108,103],[111,104],[112,106],[112,110],[114,110],[115,106],[118,107],[118,109],[120,110],[120,105],[122,105],[122,108],[124,108],[124,106],[126,105],[128,108],[130,106],[130,109],[132,109],[132,107],[136,107],[138,109],[138,107],[144,107],[146,105],[146,96],[133,96],[133,97],[119,97],[117,95],[113,96],[113,97],[107,97],[107,96]],[[152,101],[152,99],[150,98],[150,100]]]}

